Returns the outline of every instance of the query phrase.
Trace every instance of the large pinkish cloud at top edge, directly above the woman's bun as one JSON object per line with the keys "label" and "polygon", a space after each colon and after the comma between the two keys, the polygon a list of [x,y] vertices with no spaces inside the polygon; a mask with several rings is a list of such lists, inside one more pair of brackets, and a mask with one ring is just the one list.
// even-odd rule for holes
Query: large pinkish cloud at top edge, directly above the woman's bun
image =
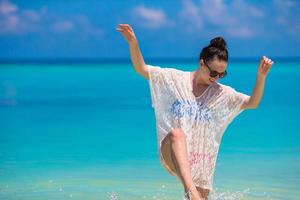
{"label": "large pinkish cloud at top edge, directly above the woman's bun", "polygon": [[195,33],[218,31],[232,37],[249,38],[259,34],[255,20],[263,19],[264,13],[243,0],[228,4],[222,0],[182,0],[182,10],[178,16],[178,21],[187,27],[188,32],[191,29]]}

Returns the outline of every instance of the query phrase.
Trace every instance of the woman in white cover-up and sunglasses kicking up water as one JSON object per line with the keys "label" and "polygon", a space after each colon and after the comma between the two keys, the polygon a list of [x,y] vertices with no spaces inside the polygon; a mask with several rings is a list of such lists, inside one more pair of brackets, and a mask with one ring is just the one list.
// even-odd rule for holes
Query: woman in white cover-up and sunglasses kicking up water
{"label": "woman in white cover-up and sunglasses kicking up water", "polygon": [[262,57],[251,97],[218,83],[227,74],[228,51],[217,37],[204,47],[192,72],[146,65],[133,29],[117,30],[129,44],[134,69],[149,80],[161,164],[182,182],[188,199],[207,199],[222,135],[244,109],[257,108],[273,61]]}

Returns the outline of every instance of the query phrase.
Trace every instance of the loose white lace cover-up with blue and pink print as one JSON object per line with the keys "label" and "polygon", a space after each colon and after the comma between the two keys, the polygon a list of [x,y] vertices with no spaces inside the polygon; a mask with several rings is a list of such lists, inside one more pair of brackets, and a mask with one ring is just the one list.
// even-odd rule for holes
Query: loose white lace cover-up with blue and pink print
{"label": "loose white lace cover-up with blue and pink print", "polygon": [[148,65],[155,111],[159,160],[166,170],[161,142],[173,129],[183,130],[193,182],[213,189],[215,163],[222,135],[250,96],[214,82],[199,96],[192,93],[191,72]]}

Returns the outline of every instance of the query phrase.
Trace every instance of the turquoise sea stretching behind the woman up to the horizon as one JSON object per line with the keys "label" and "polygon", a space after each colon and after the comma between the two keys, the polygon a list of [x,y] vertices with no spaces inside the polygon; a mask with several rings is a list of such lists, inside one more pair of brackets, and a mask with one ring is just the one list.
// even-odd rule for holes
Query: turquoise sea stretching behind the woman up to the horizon
{"label": "turquoise sea stretching behind the woman up to the horizon", "polygon": [[[148,62],[195,70],[193,62]],[[221,83],[251,95],[257,62]],[[227,128],[210,199],[300,199],[300,62]],[[0,199],[181,200],[158,160],[147,80],[130,63],[0,65]]]}

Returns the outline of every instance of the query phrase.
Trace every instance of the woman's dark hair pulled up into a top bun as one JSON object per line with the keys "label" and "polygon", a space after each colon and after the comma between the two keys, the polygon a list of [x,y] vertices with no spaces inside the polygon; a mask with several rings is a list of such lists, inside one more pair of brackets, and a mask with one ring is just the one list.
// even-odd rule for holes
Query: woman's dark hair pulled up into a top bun
{"label": "woman's dark hair pulled up into a top bun", "polygon": [[227,45],[222,37],[213,38],[210,44],[202,49],[199,61],[203,59],[205,62],[210,62],[214,58],[228,62]]}

